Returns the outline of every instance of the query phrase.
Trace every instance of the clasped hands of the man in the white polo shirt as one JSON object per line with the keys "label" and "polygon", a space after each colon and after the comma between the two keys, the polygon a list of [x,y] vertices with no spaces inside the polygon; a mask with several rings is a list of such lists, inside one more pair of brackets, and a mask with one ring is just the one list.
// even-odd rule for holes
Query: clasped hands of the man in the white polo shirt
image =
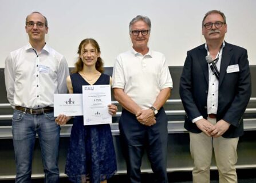
{"label": "clasped hands of the man in the white polo shirt", "polygon": [[156,124],[155,113],[152,109],[140,110],[136,113],[136,118],[142,125],[152,126]]}

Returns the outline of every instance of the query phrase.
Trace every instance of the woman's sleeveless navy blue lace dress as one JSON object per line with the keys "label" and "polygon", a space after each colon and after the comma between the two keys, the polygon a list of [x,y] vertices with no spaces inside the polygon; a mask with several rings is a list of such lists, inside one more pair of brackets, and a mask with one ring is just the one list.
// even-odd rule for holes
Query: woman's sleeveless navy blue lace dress
{"label": "woman's sleeveless navy blue lace dress", "polygon": [[[82,85],[90,85],[78,73],[70,75],[73,92],[82,93]],[[109,75],[101,74],[94,85],[108,85]],[[84,126],[82,116],[74,118],[65,173],[72,182],[100,183],[117,170],[116,154],[109,124]],[[83,180],[83,181],[82,181]]]}

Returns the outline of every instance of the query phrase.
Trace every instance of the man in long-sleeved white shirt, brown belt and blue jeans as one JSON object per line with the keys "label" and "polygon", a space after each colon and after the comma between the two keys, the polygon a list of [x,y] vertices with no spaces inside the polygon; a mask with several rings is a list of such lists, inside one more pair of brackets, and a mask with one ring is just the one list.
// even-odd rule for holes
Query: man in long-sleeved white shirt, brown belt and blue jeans
{"label": "man in long-sleeved white shirt, brown belt and blue jeans", "polygon": [[26,17],[29,43],[12,51],[5,61],[7,98],[14,108],[12,133],[15,182],[31,182],[36,135],[41,146],[45,182],[59,182],[60,125],[53,116],[53,94],[66,93],[68,64],[63,55],[46,45],[46,17],[33,12]]}

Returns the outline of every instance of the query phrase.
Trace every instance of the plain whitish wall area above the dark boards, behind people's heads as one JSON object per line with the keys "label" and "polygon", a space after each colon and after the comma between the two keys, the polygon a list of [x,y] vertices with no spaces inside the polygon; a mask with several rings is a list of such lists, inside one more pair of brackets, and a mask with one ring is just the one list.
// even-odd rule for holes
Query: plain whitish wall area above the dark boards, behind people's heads
{"label": "plain whitish wall area above the dark boards, behind people's heads", "polygon": [[48,18],[46,42],[64,54],[69,67],[77,59],[78,44],[94,38],[104,66],[131,48],[128,25],[136,15],[147,15],[152,30],[149,47],[166,55],[169,66],[183,66],[187,50],[202,43],[202,19],[209,10],[227,18],[225,40],[245,47],[250,65],[256,65],[256,1],[254,0],[0,0],[0,67],[10,51],[26,45],[26,15],[40,11]]}

